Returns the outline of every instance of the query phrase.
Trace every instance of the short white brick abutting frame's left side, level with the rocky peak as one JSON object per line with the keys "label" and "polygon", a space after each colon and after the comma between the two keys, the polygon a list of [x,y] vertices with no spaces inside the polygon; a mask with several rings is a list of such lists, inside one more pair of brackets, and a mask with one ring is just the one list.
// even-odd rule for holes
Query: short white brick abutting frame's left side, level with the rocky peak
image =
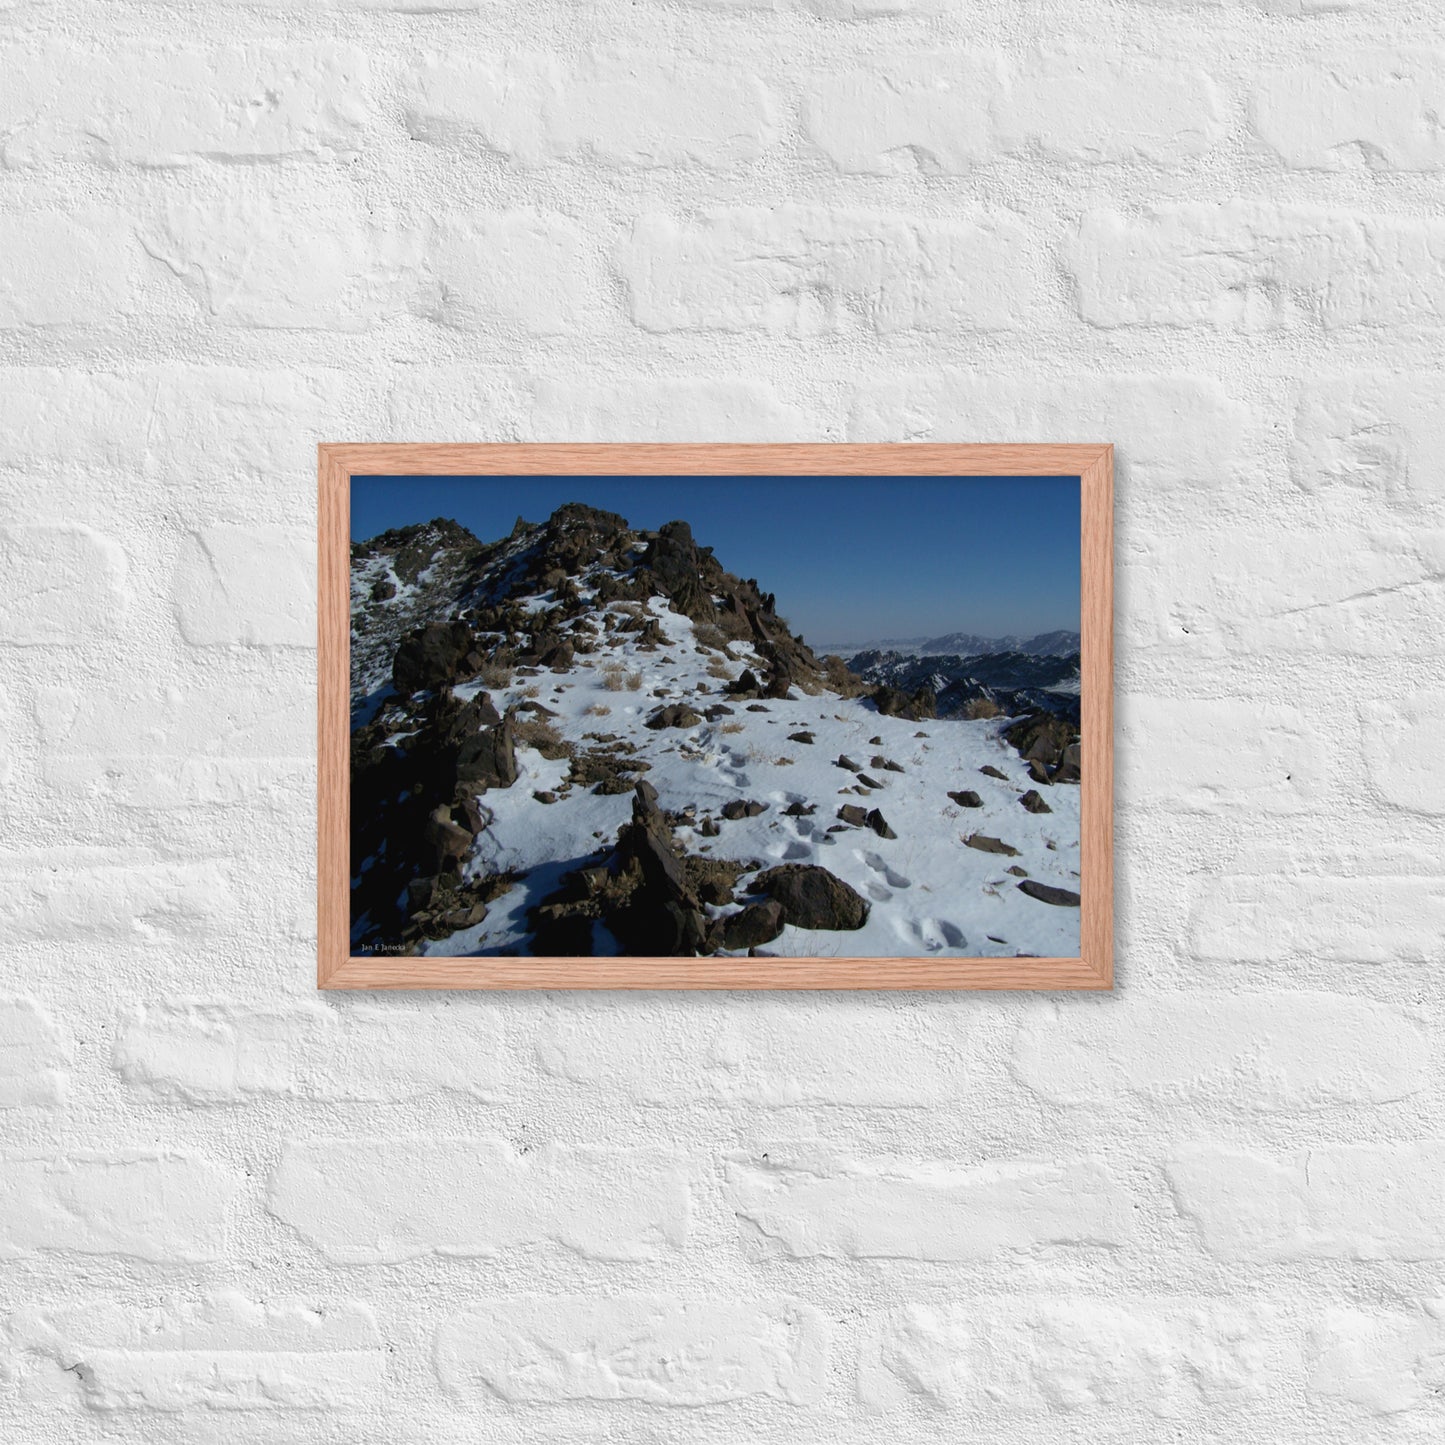
{"label": "short white brick abutting frame's left side, level with the rocky peak", "polygon": [[314,647],[314,538],[283,527],[188,533],[172,584],[181,634],[192,646]]}

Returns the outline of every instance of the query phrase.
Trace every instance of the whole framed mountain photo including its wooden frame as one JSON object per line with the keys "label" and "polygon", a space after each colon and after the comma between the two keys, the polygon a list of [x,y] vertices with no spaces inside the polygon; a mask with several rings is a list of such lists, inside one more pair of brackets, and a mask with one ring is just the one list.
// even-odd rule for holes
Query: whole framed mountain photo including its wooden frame
{"label": "whole framed mountain photo including its wooden frame", "polygon": [[1111,987],[1110,447],[319,491],[319,987]]}

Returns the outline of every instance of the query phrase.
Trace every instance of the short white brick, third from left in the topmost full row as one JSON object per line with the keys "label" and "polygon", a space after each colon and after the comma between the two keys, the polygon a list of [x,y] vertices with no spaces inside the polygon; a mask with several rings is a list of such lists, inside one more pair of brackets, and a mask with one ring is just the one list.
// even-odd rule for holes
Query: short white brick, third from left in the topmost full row
{"label": "short white brick, third from left in the topmost full row", "polygon": [[964,175],[993,149],[998,59],[931,55],[824,75],[808,87],[803,134],[855,175]]}

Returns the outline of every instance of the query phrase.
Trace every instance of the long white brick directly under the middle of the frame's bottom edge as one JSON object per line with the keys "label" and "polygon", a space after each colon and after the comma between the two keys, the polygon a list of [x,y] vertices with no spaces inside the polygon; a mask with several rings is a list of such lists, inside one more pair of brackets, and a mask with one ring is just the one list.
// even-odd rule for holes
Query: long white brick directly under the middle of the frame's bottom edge
{"label": "long white brick directly under the middle of the frame's bottom edge", "polygon": [[[955,1097],[958,1040],[913,1010],[834,1000],[753,1003],[727,1016],[577,1009],[538,1053],[559,1078],[644,1104],[699,1097],[790,1104],[941,1104]],[[906,1074],[893,1066],[909,1056]]]}

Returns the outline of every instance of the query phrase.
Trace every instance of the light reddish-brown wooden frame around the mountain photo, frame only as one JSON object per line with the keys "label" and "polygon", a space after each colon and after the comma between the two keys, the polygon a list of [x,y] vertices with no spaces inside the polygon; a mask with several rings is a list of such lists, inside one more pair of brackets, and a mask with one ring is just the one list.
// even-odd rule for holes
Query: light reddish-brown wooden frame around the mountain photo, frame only
{"label": "light reddish-brown wooden frame around the mountain photo, frame only", "polygon": [[[1113,987],[1113,448],[1108,445],[319,447],[318,988]],[[1078,477],[1081,910],[1074,958],[435,958],[350,949],[350,504],[354,475]]]}

